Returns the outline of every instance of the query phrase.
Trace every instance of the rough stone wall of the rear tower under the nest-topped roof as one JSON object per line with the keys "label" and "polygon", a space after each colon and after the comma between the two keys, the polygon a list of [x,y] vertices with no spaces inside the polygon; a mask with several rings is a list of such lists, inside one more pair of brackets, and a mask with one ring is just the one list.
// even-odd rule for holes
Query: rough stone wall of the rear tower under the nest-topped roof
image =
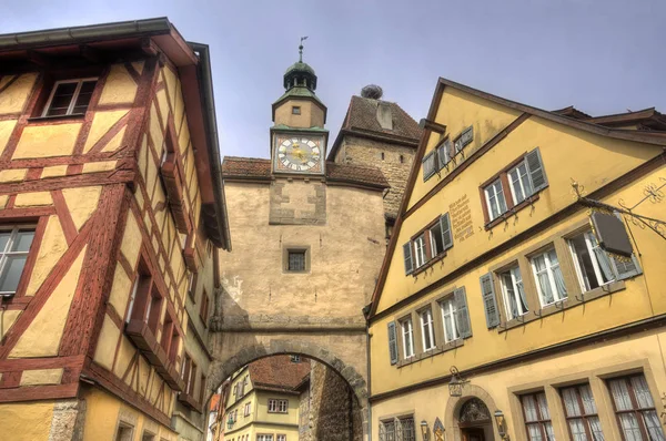
{"label": "rough stone wall of the rear tower under the nest-topped roof", "polygon": [[384,196],[384,212],[395,218],[415,153],[416,148],[411,146],[347,135],[337,151],[335,162],[380,168],[391,184],[389,193]]}

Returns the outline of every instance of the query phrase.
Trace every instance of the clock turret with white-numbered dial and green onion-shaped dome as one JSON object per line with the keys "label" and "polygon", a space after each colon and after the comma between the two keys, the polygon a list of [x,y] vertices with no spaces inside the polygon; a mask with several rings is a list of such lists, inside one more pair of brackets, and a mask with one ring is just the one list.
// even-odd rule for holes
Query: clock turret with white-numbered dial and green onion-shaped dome
{"label": "clock turret with white-numbered dial and green onion-shaped dome", "polygon": [[285,92],[273,103],[271,164],[274,174],[325,175],[326,106],[316,96],[316,74],[299,61],[284,73]]}

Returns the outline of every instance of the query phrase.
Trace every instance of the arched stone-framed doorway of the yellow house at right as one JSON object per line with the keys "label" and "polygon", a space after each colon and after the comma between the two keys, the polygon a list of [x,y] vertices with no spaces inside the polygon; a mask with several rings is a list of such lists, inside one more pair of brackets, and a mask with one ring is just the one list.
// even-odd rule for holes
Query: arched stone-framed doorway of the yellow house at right
{"label": "arched stone-framed doorway of the yellow house at right", "polygon": [[496,409],[497,406],[488,392],[467,383],[462,397],[451,397],[446,403],[446,433],[452,433],[454,441],[501,440],[493,422]]}

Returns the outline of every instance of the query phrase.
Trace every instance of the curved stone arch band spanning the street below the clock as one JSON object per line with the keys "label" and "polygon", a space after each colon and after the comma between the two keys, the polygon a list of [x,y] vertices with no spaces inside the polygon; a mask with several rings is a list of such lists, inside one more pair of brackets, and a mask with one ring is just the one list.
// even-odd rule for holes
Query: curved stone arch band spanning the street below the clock
{"label": "curved stone arch band spanning the street below the clock", "polygon": [[[312,342],[293,339],[271,339],[265,345],[255,343],[246,346],[225,360],[215,360],[209,371],[208,393],[212,394],[226,378],[244,366],[256,360],[281,355],[297,355],[314,360],[320,363],[319,366],[325,366],[330,372],[334,372],[334,377],[339,377],[343,381],[339,382],[339,384],[346,383],[351,400],[349,401],[350,421],[353,419],[353,427],[355,428],[352,431],[356,433],[356,437],[360,434],[362,439],[367,439],[367,387],[364,378],[356,371],[355,367],[349,366],[330,350]],[[330,375],[325,377],[329,380],[331,379]],[[352,408],[354,409],[353,418],[351,417]],[[350,438],[350,440],[352,439],[360,438]]]}

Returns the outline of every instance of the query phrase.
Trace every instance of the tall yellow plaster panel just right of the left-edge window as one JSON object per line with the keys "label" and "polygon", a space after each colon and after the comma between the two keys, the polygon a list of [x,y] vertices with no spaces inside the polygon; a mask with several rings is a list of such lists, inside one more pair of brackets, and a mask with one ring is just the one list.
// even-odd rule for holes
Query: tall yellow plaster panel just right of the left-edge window
{"label": "tall yellow plaster panel just right of the left-edge window", "polygon": [[67,249],[67,238],[62,232],[60,221],[57,215],[50,216],[44,230],[44,237],[42,238],[41,246],[37,254],[37,260],[32,268],[30,280],[28,281],[26,296],[34,296]]}

